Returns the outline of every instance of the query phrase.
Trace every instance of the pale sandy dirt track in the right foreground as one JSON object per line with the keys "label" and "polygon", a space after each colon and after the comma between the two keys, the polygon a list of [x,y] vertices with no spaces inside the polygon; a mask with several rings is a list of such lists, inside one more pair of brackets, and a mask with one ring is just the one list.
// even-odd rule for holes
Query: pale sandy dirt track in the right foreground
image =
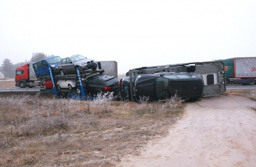
{"label": "pale sandy dirt track in the right foreground", "polygon": [[117,166],[256,166],[256,102],[220,95],[186,104],[164,138]]}

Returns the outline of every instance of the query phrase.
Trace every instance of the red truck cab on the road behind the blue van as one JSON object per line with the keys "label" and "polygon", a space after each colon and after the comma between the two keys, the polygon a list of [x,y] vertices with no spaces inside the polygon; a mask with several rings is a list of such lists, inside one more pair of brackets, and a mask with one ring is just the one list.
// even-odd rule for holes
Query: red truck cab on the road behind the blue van
{"label": "red truck cab on the road behind the blue van", "polygon": [[35,76],[32,65],[25,63],[23,66],[17,67],[15,75],[15,86],[20,88],[40,86],[43,88],[44,81],[39,81]]}

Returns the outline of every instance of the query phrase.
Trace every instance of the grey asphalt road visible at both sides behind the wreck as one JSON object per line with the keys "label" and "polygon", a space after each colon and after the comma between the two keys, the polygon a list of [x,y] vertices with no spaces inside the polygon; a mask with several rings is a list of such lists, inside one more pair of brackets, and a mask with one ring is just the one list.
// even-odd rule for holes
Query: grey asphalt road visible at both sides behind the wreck
{"label": "grey asphalt road visible at both sides behind the wreck", "polygon": [[[40,92],[42,88],[0,88],[0,92]],[[256,85],[253,86],[243,86],[243,85],[229,85],[226,86],[227,90],[243,90],[243,89],[256,89]]]}

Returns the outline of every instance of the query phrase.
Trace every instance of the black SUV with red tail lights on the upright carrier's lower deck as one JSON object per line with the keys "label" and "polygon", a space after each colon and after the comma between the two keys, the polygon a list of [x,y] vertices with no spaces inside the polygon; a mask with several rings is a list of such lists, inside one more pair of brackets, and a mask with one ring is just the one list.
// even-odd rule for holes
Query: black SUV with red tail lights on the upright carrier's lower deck
{"label": "black SUV with red tail lights on the upright carrier's lower deck", "polygon": [[[120,95],[120,82],[114,76],[108,74],[97,74],[82,81],[84,91],[90,96],[99,93],[114,92],[113,96]],[[81,93],[79,82],[77,82],[77,92]]]}

